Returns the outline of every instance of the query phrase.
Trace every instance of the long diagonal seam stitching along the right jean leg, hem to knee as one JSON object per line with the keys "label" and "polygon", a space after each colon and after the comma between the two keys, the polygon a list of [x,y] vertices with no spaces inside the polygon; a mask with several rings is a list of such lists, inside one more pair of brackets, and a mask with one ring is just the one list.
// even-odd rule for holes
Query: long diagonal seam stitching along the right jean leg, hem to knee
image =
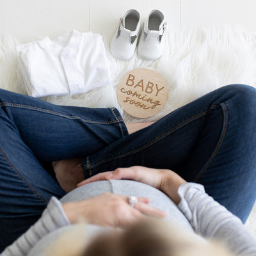
{"label": "long diagonal seam stitching along the right jean leg, hem to knee", "polygon": [[[175,127],[173,127],[172,129],[164,132],[163,134],[159,135],[157,138],[155,138],[154,140],[148,142],[147,144],[143,145],[140,148],[136,148],[134,150],[130,150],[129,152],[125,152],[124,154],[118,155],[118,156],[113,156],[113,157],[109,157],[108,159],[103,159],[102,161],[99,161],[95,164],[90,165],[90,168],[94,168],[95,166],[102,164],[102,163],[106,163],[108,161],[111,161],[113,159],[118,159],[120,157],[125,157],[125,156],[129,156],[130,154],[139,152],[140,150],[143,150],[144,148],[149,147],[150,145],[154,144],[155,142],[162,140],[164,137],[168,136],[169,134],[171,134],[173,131],[177,131],[177,129],[179,129],[180,127],[184,126],[185,124],[188,124],[189,122],[196,120],[197,118],[200,118],[204,115],[206,115],[211,109],[216,108],[218,106],[212,106],[212,108],[207,109],[205,111],[202,111],[194,116],[191,116],[190,118],[188,118],[187,120],[185,120],[184,122],[180,123],[179,125],[176,125]],[[89,168],[89,166],[88,166]]]}

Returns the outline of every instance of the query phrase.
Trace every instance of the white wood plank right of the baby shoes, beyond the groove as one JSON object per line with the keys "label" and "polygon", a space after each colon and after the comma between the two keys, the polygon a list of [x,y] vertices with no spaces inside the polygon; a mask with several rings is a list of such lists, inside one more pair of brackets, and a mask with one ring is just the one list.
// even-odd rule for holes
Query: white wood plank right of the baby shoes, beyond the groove
{"label": "white wood plank right of the baby shoes, beyond the groove", "polygon": [[180,0],[181,26],[240,26],[256,32],[255,0]]}

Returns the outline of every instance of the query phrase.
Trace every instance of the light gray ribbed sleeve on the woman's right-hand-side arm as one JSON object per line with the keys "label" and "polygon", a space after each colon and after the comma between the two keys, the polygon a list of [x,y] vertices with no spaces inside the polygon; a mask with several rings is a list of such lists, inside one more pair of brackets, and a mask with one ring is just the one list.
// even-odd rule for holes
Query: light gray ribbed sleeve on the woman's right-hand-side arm
{"label": "light gray ribbed sleeve on the woman's right-hand-side arm", "polygon": [[186,183],[180,186],[178,205],[197,234],[218,239],[236,255],[255,256],[256,239],[239,218],[207,195],[204,186]]}

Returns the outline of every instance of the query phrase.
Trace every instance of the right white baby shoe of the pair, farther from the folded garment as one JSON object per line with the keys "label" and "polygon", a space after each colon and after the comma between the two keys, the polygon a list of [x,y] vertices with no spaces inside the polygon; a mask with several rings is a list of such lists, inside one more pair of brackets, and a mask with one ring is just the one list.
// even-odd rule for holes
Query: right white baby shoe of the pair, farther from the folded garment
{"label": "right white baby shoe of the pair, farther from the folded garment", "polygon": [[164,51],[166,22],[159,10],[152,10],[143,22],[138,53],[145,60],[156,60]]}

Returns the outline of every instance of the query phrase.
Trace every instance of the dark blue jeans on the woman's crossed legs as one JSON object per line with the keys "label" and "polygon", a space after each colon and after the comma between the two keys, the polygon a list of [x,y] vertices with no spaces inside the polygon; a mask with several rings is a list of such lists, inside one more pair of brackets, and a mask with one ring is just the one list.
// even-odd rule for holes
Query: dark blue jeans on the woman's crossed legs
{"label": "dark blue jeans on the woman's crossed legs", "polygon": [[117,167],[168,168],[244,222],[256,198],[256,90],[234,84],[128,134],[114,108],[56,106],[0,90],[0,252],[65,191],[52,161],[81,157],[85,179]]}

